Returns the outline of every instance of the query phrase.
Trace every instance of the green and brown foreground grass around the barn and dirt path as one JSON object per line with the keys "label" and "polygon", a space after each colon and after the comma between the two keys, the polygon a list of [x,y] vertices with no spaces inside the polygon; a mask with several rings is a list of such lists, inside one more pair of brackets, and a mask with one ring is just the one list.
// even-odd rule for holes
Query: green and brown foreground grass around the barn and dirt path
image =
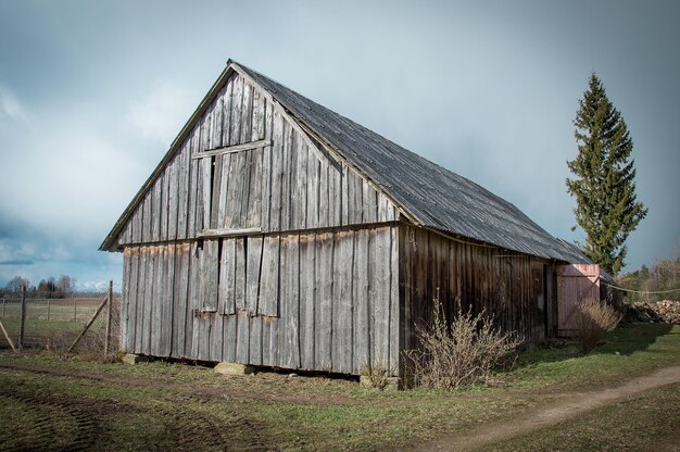
{"label": "green and brown foreground grass around the barn and dirt path", "polygon": [[[654,324],[619,328],[591,355],[574,346],[524,352],[515,369],[496,375],[503,387],[457,392],[381,392],[323,376],[226,377],[162,361],[125,366],[5,352],[0,449],[417,450],[670,365],[680,365],[680,327]],[[677,389],[638,394],[489,450],[582,450],[595,439],[600,450],[671,443],[675,430],[666,425],[678,424]],[[655,424],[656,416],[663,419]]]}

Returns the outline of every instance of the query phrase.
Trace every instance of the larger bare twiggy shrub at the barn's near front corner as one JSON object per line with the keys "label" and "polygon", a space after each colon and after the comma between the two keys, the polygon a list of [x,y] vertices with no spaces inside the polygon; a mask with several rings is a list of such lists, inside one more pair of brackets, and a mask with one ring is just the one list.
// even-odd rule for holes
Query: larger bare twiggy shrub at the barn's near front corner
{"label": "larger bare twiggy shrub at the barn's near front corner", "polygon": [[521,344],[514,335],[494,327],[484,311],[473,315],[471,307],[463,312],[458,306],[449,327],[439,303],[432,325],[418,325],[416,337],[420,349],[404,352],[411,384],[443,390],[488,381],[492,371],[508,364]]}

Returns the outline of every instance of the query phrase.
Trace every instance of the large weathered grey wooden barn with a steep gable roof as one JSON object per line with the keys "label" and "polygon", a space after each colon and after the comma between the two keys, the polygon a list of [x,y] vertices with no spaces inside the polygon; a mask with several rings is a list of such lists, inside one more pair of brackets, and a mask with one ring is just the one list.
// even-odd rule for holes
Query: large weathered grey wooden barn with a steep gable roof
{"label": "large weathered grey wooden barn with a steep gable roof", "polygon": [[101,250],[124,254],[123,351],[392,376],[435,299],[556,335],[558,268],[584,262],[509,202],[234,61]]}

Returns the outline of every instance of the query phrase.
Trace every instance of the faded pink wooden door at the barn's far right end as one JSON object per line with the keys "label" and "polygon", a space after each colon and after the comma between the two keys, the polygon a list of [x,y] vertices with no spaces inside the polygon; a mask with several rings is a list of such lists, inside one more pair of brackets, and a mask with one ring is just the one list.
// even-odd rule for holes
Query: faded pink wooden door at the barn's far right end
{"label": "faded pink wooden door at the barn's far right end", "polygon": [[600,265],[557,265],[557,336],[574,335],[574,307],[587,298],[600,301]]}

